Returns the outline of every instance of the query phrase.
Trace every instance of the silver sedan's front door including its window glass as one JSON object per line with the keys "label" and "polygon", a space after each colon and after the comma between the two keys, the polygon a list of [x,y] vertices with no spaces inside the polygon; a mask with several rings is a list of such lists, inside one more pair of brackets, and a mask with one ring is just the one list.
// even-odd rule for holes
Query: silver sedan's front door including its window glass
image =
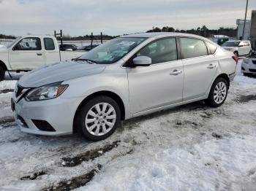
{"label": "silver sedan's front door including its window glass", "polygon": [[132,114],[146,112],[182,101],[184,72],[178,61],[176,39],[159,39],[135,56],[148,56],[150,66],[127,68]]}

